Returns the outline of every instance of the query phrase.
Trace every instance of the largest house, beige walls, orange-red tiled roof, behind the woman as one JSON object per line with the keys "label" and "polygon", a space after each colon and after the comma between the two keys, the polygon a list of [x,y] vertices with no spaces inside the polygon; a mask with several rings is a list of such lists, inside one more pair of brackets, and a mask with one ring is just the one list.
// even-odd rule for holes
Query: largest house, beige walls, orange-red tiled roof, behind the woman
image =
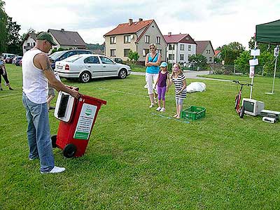
{"label": "largest house, beige walls, orange-red tiled roof, behind the woman", "polygon": [[104,34],[105,55],[108,57],[120,57],[123,60],[128,59],[130,50],[138,52],[139,61],[145,61],[146,54],[149,51],[149,45],[155,43],[158,52],[162,55],[162,60],[166,58],[167,43],[163,37],[155,20],[143,20],[119,24],[115,29]]}

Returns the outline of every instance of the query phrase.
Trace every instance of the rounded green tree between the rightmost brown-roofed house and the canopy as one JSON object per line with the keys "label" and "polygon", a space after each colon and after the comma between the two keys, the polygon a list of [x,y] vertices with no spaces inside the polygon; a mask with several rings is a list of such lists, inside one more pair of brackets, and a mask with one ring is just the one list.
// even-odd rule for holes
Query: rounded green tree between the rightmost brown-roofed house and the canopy
{"label": "rounded green tree between the rightmost brown-roofed house and the canopy", "polygon": [[228,45],[218,47],[217,50],[221,50],[221,59],[225,61],[225,64],[235,64],[235,59],[245,50],[245,47],[235,41]]}

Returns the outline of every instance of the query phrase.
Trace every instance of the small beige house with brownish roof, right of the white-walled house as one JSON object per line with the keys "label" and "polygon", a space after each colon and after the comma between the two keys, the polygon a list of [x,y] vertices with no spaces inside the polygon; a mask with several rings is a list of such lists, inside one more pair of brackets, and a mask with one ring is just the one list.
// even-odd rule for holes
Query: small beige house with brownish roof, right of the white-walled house
{"label": "small beige house with brownish roof, right of the white-walled house", "polygon": [[207,64],[214,63],[214,48],[211,41],[195,41],[197,43],[197,54],[207,57]]}

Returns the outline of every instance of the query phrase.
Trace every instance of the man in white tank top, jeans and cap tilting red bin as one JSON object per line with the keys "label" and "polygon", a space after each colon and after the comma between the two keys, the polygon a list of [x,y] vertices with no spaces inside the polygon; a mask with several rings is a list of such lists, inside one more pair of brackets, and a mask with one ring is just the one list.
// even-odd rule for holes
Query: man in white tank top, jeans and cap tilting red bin
{"label": "man in white tank top, jeans and cap tilting red bin", "polygon": [[48,83],[57,91],[67,92],[76,99],[80,96],[78,91],[69,89],[55,78],[46,55],[52,45],[57,45],[52,36],[41,32],[37,36],[35,47],[22,57],[22,102],[28,123],[29,160],[40,159],[41,174],[60,173],[65,170],[63,167],[55,167],[52,153],[47,105]]}

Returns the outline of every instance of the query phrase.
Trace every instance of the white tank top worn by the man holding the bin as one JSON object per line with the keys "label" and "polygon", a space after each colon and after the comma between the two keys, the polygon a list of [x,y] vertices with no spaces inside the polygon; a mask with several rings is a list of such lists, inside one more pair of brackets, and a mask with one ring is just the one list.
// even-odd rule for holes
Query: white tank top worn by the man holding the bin
{"label": "white tank top worn by the man holding the bin", "polygon": [[22,57],[22,90],[31,102],[43,104],[47,102],[48,79],[45,78],[43,70],[34,65],[33,59],[38,53],[42,51],[28,50]]}

